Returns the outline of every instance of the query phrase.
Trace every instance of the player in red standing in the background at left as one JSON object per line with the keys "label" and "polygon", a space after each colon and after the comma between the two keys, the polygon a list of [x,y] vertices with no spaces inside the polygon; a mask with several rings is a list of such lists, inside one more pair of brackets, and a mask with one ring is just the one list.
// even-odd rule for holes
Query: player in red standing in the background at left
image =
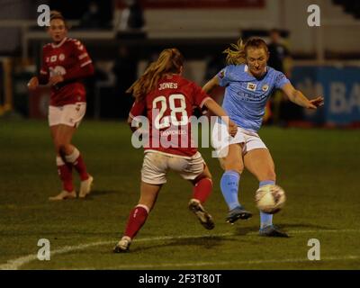
{"label": "player in red standing in the background at left", "polygon": [[67,23],[60,13],[51,12],[48,32],[52,43],[43,47],[40,74],[31,78],[28,87],[34,90],[38,85],[51,85],[49,127],[63,190],[49,200],[76,198],[73,167],[81,179],[79,198],[85,198],[93,177],[86,172],[84,159],[71,139],[86,110],[81,79],[92,76],[94,67],[85,46],[79,40],[67,38]]}

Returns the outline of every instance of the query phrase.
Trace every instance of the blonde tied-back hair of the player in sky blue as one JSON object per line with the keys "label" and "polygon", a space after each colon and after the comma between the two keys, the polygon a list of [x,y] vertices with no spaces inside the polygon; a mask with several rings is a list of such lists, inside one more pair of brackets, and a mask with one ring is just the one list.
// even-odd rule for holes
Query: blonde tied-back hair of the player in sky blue
{"label": "blonde tied-back hair of the player in sky blue", "polygon": [[[233,48],[233,49],[231,49]],[[256,49],[265,49],[268,53],[266,41],[260,38],[253,38],[244,42],[240,39],[237,44],[231,43],[231,47],[224,50],[222,53],[228,54],[226,56],[226,63],[228,65],[241,65],[247,63],[247,49],[256,48]]]}

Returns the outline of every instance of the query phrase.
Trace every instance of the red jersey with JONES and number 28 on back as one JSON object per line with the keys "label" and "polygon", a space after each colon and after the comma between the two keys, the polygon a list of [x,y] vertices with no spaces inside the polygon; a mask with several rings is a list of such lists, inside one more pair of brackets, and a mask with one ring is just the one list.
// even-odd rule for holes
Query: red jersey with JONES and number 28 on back
{"label": "red jersey with JONES and number 28 on back", "polygon": [[165,76],[157,88],[142,102],[135,102],[130,118],[148,118],[148,141],[145,152],[156,150],[179,157],[192,157],[197,152],[191,134],[193,108],[202,108],[210,96],[182,76]]}

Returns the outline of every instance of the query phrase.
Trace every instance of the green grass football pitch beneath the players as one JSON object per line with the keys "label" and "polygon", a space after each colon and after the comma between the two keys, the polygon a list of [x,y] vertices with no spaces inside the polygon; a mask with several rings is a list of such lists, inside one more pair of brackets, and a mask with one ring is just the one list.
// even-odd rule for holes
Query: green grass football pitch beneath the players
{"label": "green grass football pitch beneath the players", "polygon": [[[257,235],[254,193],[258,183],[247,172],[241,177],[240,202],[254,217],[234,225],[225,222],[222,172],[207,148],[201,152],[210,166],[214,189],[205,206],[215,229],[203,229],[188,211],[191,184],[170,173],[130,253],[115,255],[112,247],[139,199],[143,157],[141,149],[131,147],[125,123],[82,123],[74,143],[94,175],[94,191],[85,201],[49,202],[60,184],[47,123],[0,121],[0,267],[11,259],[36,257],[38,240],[48,238],[50,261],[33,258],[17,267],[358,269],[359,131],[264,127],[260,136],[275,159],[277,183],[287,196],[275,224],[291,238]],[[77,175],[74,178],[78,189]],[[307,258],[310,238],[320,240],[321,261]]]}

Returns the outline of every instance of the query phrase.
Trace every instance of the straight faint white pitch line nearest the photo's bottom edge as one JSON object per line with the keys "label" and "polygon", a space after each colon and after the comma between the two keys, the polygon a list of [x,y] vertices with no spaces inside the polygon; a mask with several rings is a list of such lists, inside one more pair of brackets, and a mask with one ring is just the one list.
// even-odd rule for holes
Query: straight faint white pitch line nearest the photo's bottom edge
{"label": "straight faint white pitch line nearest the photo's bottom edge", "polygon": [[[193,262],[193,263],[163,263],[163,264],[139,264],[139,265],[122,265],[122,266],[109,266],[101,268],[102,270],[127,270],[127,269],[154,269],[166,267],[200,267],[200,266],[227,266],[227,265],[252,265],[252,264],[269,264],[269,263],[321,263],[323,261],[341,261],[341,260],[356,260],[360,256],[347,255],[343,257],[321,257],[319,261],[311,261],[306,258],[292,258],[292,259],[262,259],[262,260],[243,260],[243,261],[223,261],[223,262]],[[66,269],[66,268],[63,268]],[[74,270],[96,270],[94,267],[85,267]]]}

